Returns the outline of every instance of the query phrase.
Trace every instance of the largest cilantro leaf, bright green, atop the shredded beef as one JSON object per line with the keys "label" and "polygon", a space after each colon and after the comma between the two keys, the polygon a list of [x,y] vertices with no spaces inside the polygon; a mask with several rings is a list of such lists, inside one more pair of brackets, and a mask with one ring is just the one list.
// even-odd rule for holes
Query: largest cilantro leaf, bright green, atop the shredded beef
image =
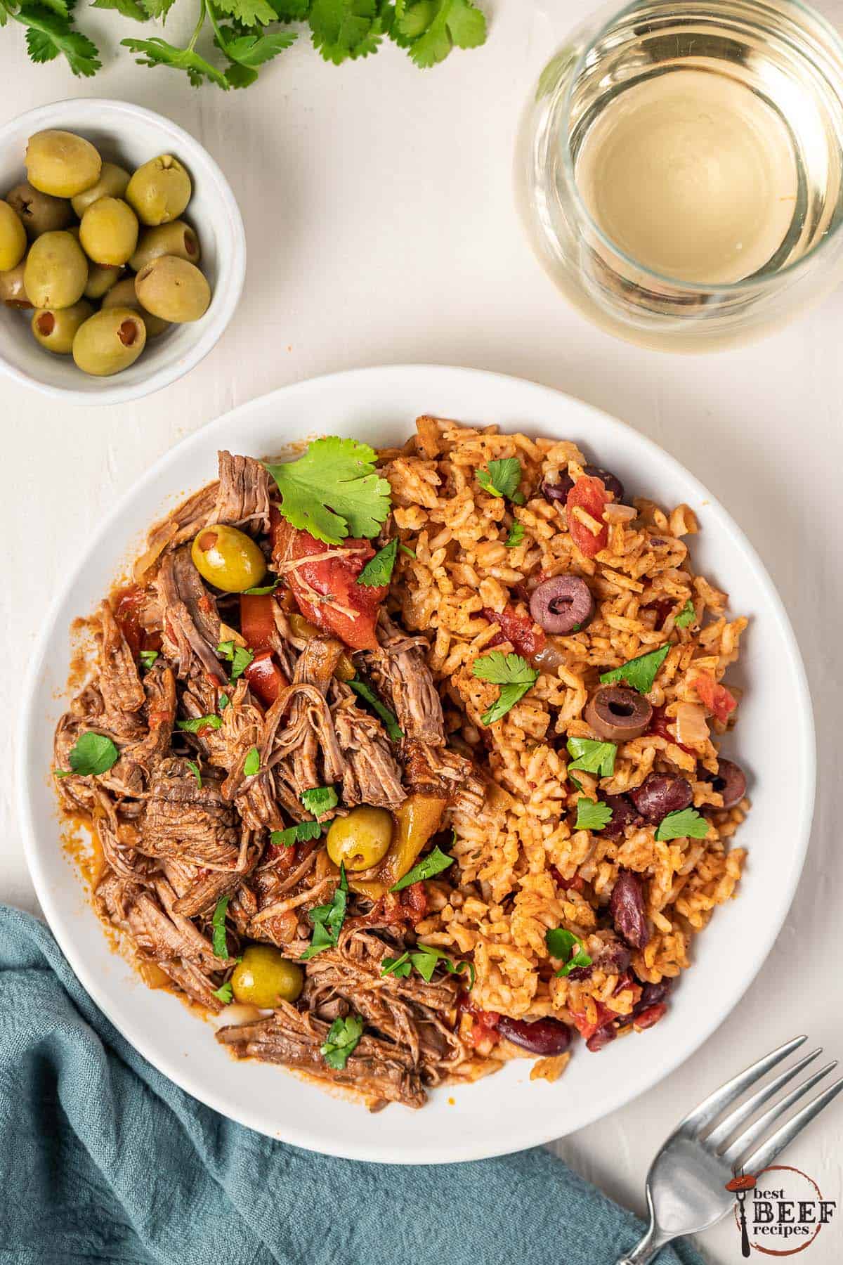
{"label": "largest cilantro leaf, bright green, atop the shredded beef", "polygon": [[317,540],[377,536],[387,521],[391,488],[375,473],[375,452],[356,439],[317,439],[296,462],[267,466],[281,492],[281,514]]}

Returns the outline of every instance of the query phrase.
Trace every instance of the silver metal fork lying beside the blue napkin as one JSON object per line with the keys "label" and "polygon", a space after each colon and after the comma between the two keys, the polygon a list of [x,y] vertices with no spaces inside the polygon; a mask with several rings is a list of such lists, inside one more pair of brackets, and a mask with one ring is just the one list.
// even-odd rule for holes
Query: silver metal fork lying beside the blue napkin
{"label": "silver metal fork lying beside the blue napkin", "polygon": [[[647,1174],[650,1228],[641,1242],[628,1256],[622,1256],[617,1265],[646,1265],[672,1238],[708,1230],[720,1221],[732,1208],[734,1199],[734,1195],[725,1189],[725,1183],[732,1180],[738,1168],[746,1173],[760,1173],[801,1133],[832,1098],[839,1094],[843,1089],[843,1078],[806,1103],[775,1133],[770,1133],[771,1126],[837,1066],[834,1059],[790,1089],[777,1103],[737,1133],[744,1121],[751,1120],[789,1080],[798,1077],[823,1052],[819,1049],[780,1071],[772,1080],[756,1089],[746,1102],[719,1120],[727,1107],[737,1103],[747,1089],[757,1084],[806,1040],[804,1036],[796,1036],[763,1059],[758,1059],[751,1068],[715,1089],[679,1123],[650,1165]],[[734,1133],[737,1137],[733,1137]],[[765,1137],[766,1141],[762,1141]]]}

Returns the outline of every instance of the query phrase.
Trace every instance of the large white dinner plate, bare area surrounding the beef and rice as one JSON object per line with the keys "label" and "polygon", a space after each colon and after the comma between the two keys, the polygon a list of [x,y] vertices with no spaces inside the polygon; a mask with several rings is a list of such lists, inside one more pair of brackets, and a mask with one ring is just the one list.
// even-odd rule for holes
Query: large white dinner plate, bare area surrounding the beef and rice
{"label": "large white dinner plate, bare area surrounding the beef and rice", "polygon": [[[694,941],[694,964],[656,1027],[600,1054],[578,1040],[554,1085],[531,1082],[531,1064],[514,1060],[478,1084],[434,1092],[422,1111],[392,1106],[370,1116],[279,1068],[233,1061],[209,1025],[176,997],[150,992],[110,951],[62,851],[49,769],[53,726],[67,697],[71,621],[94,610],[140,550],[149,524],[215,477],[219,447],[263,455],[315,434],[399,444],[421,412],[574,439],[631,492],[693,507],[701,526],[694,564],[752,621],[739,670],[729,672],[746,694],[724,750],[752,772],[753,807],[738,840],[749,849],[738,897]],[[300,382],[236,409],[171,449],[131,488],[68,576],[43,630],[30,658],[18,750],[27,856],[49,925],[95,1002],[150,1063],[224,1116],[272,1137],[350,1159],[431,1164],[518,1151],[581,1128],[672,1071],[725,1018],[767,956],[796,889],[814,797],[814,731],[799,650],[763,565],[677,462],[622,423],[545,387],[469,369],[392,367]]]}

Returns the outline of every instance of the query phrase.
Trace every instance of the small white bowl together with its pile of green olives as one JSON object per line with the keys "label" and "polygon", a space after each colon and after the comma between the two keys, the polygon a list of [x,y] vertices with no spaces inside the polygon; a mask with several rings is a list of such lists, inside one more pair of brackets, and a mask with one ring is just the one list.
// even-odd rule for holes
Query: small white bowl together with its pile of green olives
{"label": "small white bowl together with its pile of green olives", "polygon": [[71,404],[159,391],[207,355],[245,278],[210,154],[126,101],[40,106],[0,128],[0,369]]}

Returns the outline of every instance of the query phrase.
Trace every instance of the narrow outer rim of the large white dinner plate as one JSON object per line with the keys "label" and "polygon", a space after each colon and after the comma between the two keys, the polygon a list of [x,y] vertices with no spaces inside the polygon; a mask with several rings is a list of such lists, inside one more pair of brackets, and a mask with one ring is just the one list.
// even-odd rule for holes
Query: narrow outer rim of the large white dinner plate
{"label": "narrow outer rim of the large white dinner plate", "polygon": [[[447,1149],[442,1149],[441,1154],[425,1154],[423,1156],[415,1155],[402,1155],[387,1152],[384,1154],[377,1145],[368,1142],[359,1142],[348,1138],[346,1136],[336,1136],[336,1141],[332,1142],[331,1149],[327,1150],[324,1144],[318,1140],[308,1138],[307,1130],[300,1128],[298,1126],[286,1127],[284,1131],[278,1131],[267,1126],[259,1112],[236,1111],[233,1109],[230,1104],[225,1102],[224,1094],[202,1087],[201,1092],[197,1090],[193,1078],[190,1070],[185,1070],[176,1059],[169,1059],[166,1055],[150,1055],[147,1050],[142,1049],[139,1045],[131,1040],[120,1020],[115,1016],[114,1008],[111,1007],[107,998],[105,998],[104,990],[99,987],[96,975],[88,970],[83,955],[76,951],[73,939],[67,932],[64,927],[64,918],[62,912],[57,908],[57,903],[53,901],[51,894],[51,884],[47,874],[44,873],[40,863],[40,848],[38,842],[33,802],[34,797],[43,793],[44,783],[43,774],[44,769],[30,769],[29,762],[27,759],[29,751],[30,735],[37,724],[34,716],[35,698],[38,692],[39,682],[39,668],[51,645],[51,634],[58,621],[58,615],[61,607],[68,600],[73,587],[76,586],[77,578],[85,572],[90,565],[92,555],[96,553],[100,541],[107,535],[115,521],[123,515],[130,501],[134,500],[143,490],[149,484],[154,483],[162,471],[164,471],[171,460],[173,459],[173,453],[190,450],[191,447],[201,448],[207,444],[211,434],[224,423],[231,424],[234,419],[235,426],[239,425],[240,420],[248,416],[252,411],[260,411],[267,406],[270,406],[272,401],[277,400],[279,396],[294,396],[297,393],[307,395],[310,391],[318,392],[325,387],[332,387],[336,390],[345,382],[354,379],[355,382],[367,377],[378,378],[380,374],[454,374],[463,376],[465,378],[473,378],[475,382],[483,379],[487,385],[494,382],[500,383],[514,383],[519,391],[526,395],[532,392],[537,396],[542,396],[547,402],[573,402],[579,410],[583,411],[583,416],[588,419],[588,415],[593,415],[600,419],[603,425],[608,425],[608,429],[618,429],[632,431],[636,438],[636,443],[642,445],[645,455],[647,453],[655,453],[658,455],[660,462],[667,462],[669,467],[672,467],[684,481],[686,481],[699,495],[700,500],[707,501],[708,506],[714,507],[722,515],[724,515],[725,521],[731,529],[732,539],[734,546],[738,548],[744,559],[749,563],[751,569],[755,572],[756,578],[763,591],[766,601],[770,603],[770,608],[776,615],[776,621],[780,632],[784,638],[787,657],[790,660],[790,667],[794,673],[794,682],[800,694],[800,711],[799,711],[799,744],[804,758],[805,779],[801,796],[801,803],[798,808],[798,818],[801,826],[798,831],[798,836],[794,837],[794,849],[791,853],[792,864],[790,872],[785,875],[786,882],[782,882],[779,892],[779,901],[775,906],[772,917],[766,923],[766,934],[757,940],[761,945],[760,950],[756,950],[756,960],[751,972],[742,979],[739,989],[728,999],[728,1003],[717,1009],[712,1009],[712,1016],[707,1022],[704,1022],[696,1031],[695,1036],[688,1045],[682,1045],[681,1050],[674,1052],[669,1056],[667,1063],[660,1060],[652,1060],[652,1073],[643,1074],[640,1082],[636,1082],[634,1089],[629,1093],[627,1088],[612,1093],[607,1089],[607,1093],[595,1103],[594,1109],[588,1112],[586,1118],[579,1121],[573,1128],[581,1130],[588,1128],[597,1121],[609,1116],[612,1112],[618,1111],[621,1107],[627,1106],[633,1102],[641,1094],[652,1089],[661,1080],[666,1079],[671,1073],[680,1068],[688,1059],[695,1054],[700,1046],[720,1027],[720,1025],[728,1018],[728,1016],[734,1011],[734,1008],[741,1002],[742,997],[746,994],[749,985],[753,983],[758,972],[767,960],[770,951],[779,936],[779,932],[787,917],[791,903],[796,894],[796,888],[799,885],[799,879],[805,863],[805,856],[808,854],[808,846],[810,842],[810,832],[813,824],[813,811],[815,803],[816,792],[816,737],[814,726],[814,713],[810,689],[808,684],[808,677],[805,667],[803,663],[801,653],[799,650],[799,644],[796,641],[795,632],[792,630],[790,619],[782,598],[780,597],[761,557],[758,555],[755,546],[748,540],[743,529],[734,521],[725,506],[715,497],[698,478],[693,474],[681,462],[677,460],[671,453],[661,448],[655,440],[650,439],[647,435],[642,435],[628,423],[605,412],[594,405],[588,404],[578,396],[570,395],[564,391],[559,391],[555,387],[545,386],[543,383],[535,382],[530,378],[522,378],[516,374],[497,373],[487,369],[474,369],[461,366],[447,366],[447,364],[425,364],[425,363],[402,363],[402,364],[379,364],[368,366],[354,369],[340,369],[337,372],[320,374],[313,378],[303,378],[297,382],[288,383],[286,386],[276,387],[273,391],[265,392],[262,396],[257,396],[253,400],[248,400],[235,409],[230,409],[219,416],[211,419],[205,425],[197,428],[191,434],[186,435],[183,439],[178,440],[167,448],[161,457],[153,462],[153,464],[144,471],[144,473],[135,479],[118,498],[115,505],[104,516],[95,536],[87,545],[87,548],[81,554],[77,564],[67,577],[64,584],[57,591],[51,601],[45,616],[43,617],[42,627],[35,638],[32,657],[29,660],[29,667],[27,672],[27,678],[24,683],[21,708],[19,713],[19,721],[15,731],[15,737],[18,743],[18,750],[21,753],[21,758],[18,760],[18,772],[15,778],[15,791],[18,802],[18,813],[23,832],[24,855],[27,859],[27,867],[29,869],[29,875],[32,878],[33,885],[35,888],[35,894],[40,903],[44,918],[59,946],[62,954],[64,955],[67,963],[73,970],[76,978],[80,980],[81,985],[85,988],[88,997],[99,1007],[99,1009],[105,1015],[114,1028],[120,1034],[120,1036],[135,1050],[135,1052],[154,1066],[162,1075],[168,1080],[178,1085],[179,1089],[190,1094],[198,1102],[205,1103],[207,1107],[219,1112],[227,1120],[236,1121],[255,1132],[263,1133],[264,1136],[272,1137],[276,1141],[282,1141],[293,1146],[300,1146],[305,1150],[313,1151],[316,1154],[334,1155],[340,1159],[360,1160],[367,1163],[379,1163],[379,1164],[439,1164],[439,1163],[468,1163],[479,1159],[490,1159],[494,1156],[513,1154],[519,1150],[525,1150],[532,1146],[541,1146],[560,1137],[566,1136],[573,1128],[566,1127],[565,1120],[561,1117],[557,1120],[555,1127],[547,1126],[541,1130],[532,1130],[530,1136],[525,1137],[522,1135],[511,1135],[509,1138],[504,1138],[498,1133],[498,1140],[493,1144],[465,1140],[463,1141],[459,1136],[459,1131],[454,1131],[451,1135],[451,1145]],[[432,392],[431,392],[432,393]],[[528,401],[527,401],[528,404]],[[528,421],[528,410],[525,410],[525,425]],[[164,490],[162,496],[162,503],[169,496],[169,491]],[[188,493],[186,493],[188,495]],[[42,779],[40,783],[38,779]],[[552,1113],[549,1112],[549,1120],[552,1120]],[[561,1130],[561,1132],[560,1132]]]}

